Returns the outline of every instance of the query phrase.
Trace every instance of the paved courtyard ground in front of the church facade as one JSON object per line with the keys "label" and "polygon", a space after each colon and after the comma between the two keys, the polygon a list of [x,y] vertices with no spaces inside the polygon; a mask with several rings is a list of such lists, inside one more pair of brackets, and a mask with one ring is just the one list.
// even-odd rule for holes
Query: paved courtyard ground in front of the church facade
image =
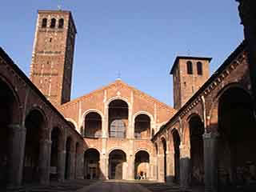
{"label": "paved courtyard ground in front of the church facade", "polygon": [[[3,190],[0,190],[2,192]],[[15,192],[202,192],[203,189],[181,190],[178,185],[168,186],[164,183],[149,181],[124,180],[72,180],[51,182],[49,186],[27,185]]]}

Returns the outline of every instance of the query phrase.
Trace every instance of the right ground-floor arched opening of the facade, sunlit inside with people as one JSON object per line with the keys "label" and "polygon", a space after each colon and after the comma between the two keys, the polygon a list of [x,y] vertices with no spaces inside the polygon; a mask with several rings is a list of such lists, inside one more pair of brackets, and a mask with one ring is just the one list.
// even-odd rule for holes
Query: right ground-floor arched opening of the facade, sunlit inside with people
{"label": "right ground-floor arched opening of the facade, sunlit inside with people", "polygon": [[150,154],[146,150],[139,150],[135,154],[134,178],[148,179],[150,176]]}

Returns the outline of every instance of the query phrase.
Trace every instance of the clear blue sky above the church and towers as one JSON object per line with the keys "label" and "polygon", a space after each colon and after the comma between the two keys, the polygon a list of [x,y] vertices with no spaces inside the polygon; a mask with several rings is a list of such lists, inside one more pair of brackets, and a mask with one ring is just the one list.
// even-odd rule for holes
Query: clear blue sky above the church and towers
{"label": "clear blue sky above the church and towers", "polygon": [[8,0],[2,46],[28,75],[37,10],[71,10],[78,34],[72,98],[122,80],[173,106],[170,67],[178,55],[212,57],[214,72],[243,39],[235,0]]}

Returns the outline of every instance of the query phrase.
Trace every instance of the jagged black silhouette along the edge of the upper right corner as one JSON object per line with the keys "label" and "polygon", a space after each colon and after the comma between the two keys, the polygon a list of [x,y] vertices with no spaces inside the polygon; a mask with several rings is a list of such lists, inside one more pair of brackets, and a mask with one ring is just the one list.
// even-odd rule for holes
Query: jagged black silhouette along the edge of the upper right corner
{"label": "jagged black silhouette along the edge of the upper right corner", "polygon": [[[255,0],[236,0],[239,2],[239,15],[244,26],[244,35],[248,45],[250,80],[254,97],[256,96],[256,14]],[[254,103],[254,107],[255,107]]]}

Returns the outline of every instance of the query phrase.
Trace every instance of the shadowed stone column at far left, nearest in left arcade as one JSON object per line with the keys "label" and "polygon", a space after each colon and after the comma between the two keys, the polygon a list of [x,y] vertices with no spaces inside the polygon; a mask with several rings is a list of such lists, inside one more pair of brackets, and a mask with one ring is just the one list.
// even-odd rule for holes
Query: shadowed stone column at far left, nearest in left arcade
{"label": "shadowed stone column at far left, nearest in left arcade", "polygon": [[26,145],[26,128],[18,124],[10,125],[10,159],[8,170],[8,187],[22,184],[22,170]]}

